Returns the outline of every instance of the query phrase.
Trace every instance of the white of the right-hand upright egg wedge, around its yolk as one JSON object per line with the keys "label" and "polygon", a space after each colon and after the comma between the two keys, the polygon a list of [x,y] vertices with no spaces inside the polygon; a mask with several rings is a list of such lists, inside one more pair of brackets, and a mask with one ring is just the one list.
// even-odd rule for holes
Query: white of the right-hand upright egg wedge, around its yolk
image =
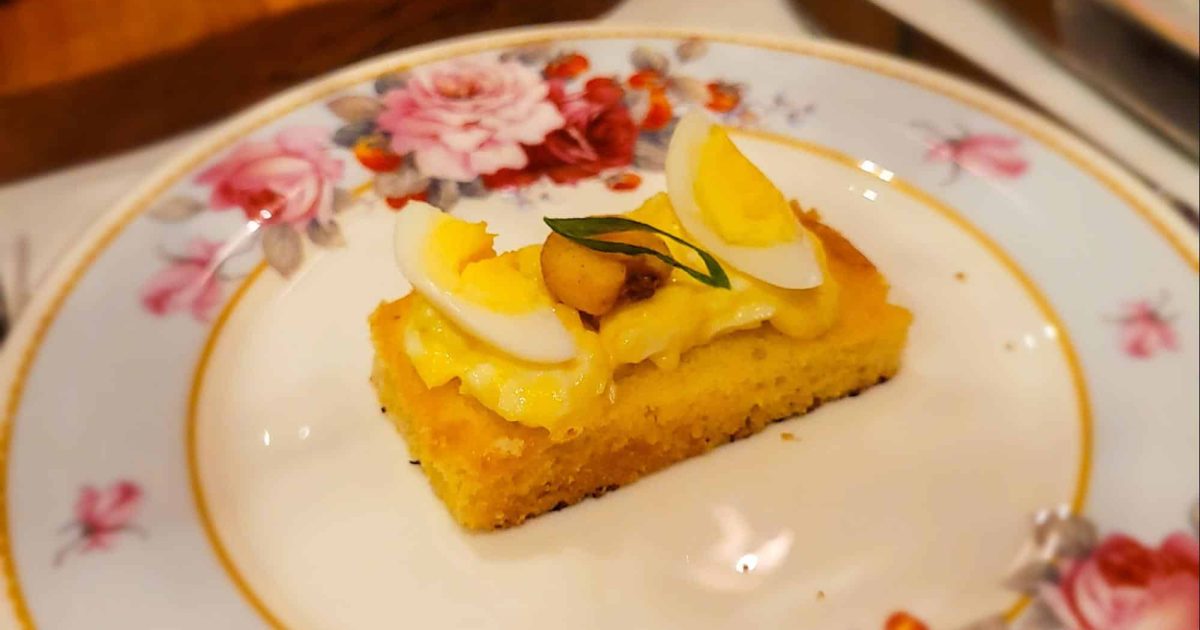
{"label": "white of the right-hand upright egg wedge, around its yolk", "polygon": [[714,232],[696,202],[700,152],[713,122],[700,110],[685,114],[667,146],[667,196],[684,230],[696,244],[737,270],[785,289],[810,289],[824,281],[812,234],[797,220],[797,238],[778,245],[733,245]]}

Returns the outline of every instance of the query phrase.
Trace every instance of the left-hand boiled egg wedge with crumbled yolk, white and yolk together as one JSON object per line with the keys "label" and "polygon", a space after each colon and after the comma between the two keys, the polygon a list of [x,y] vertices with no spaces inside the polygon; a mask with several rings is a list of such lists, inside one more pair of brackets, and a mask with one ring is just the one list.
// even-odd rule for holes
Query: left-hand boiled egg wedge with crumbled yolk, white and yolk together
{"label": "left-hand boiled egg wedge with crumbled yolk, white and yolk together", "polygon": [[396,264],[413,289],[479,340],[526,361],[574,359],[575,340],[554,313],[540,272],[497,257],[484,223],[409,202],[396,218]]}

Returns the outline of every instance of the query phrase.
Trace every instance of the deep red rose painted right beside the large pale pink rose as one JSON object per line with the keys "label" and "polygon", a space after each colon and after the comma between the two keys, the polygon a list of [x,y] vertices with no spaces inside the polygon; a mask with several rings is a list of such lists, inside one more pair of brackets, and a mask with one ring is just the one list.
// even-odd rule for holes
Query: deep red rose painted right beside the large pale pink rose
{"label": "deep red rose painted right beside the large pale pink rose", "polygon": [[551,85],[550,100],[566,124],[538,145],[526,145],[528,164],[484,175],[488,188],[527,186],[542,175],[558,184],[590,178],[634,160],[637,127],[623,102],[624,90],[608,78],[594,78],[583,90],[565,94],[560,83]]}

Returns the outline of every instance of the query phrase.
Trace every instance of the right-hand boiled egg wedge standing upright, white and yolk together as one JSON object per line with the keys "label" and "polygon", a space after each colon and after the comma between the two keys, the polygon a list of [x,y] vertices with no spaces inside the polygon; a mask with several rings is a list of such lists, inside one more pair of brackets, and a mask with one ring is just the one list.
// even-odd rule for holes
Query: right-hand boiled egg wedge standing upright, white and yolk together
{"label": "right-hand boiled egg wedge standing upright, white and yolk together", "polygon": [[701,112],[689,112],[667,148],[667,194],[696,242],[742,272],[785,289],[824,274],[815,236],[784,193]]}

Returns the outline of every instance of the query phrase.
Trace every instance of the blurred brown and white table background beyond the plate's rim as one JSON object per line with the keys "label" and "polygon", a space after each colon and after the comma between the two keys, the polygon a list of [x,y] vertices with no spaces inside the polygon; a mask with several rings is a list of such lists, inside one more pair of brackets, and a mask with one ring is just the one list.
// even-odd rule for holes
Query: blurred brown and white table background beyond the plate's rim
{"label": "blurred brown and white table background beyond the plate's rim", "polygon": [[1075,130],[1195,222],[1200,0],[0,0],[0,311],[230,114],[389,50],[569,20],[908,58]]}

